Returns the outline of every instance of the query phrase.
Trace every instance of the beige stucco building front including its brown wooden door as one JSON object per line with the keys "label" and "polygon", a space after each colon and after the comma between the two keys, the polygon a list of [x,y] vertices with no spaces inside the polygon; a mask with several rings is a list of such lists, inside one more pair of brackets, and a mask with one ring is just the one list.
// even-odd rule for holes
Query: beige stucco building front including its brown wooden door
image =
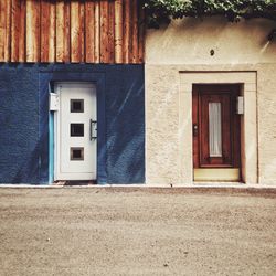
{"label": "beige stucco building front including its brown wooden door", "polygon": [[275,183],[275,26],[212,17],[147,32],[148,182]]}

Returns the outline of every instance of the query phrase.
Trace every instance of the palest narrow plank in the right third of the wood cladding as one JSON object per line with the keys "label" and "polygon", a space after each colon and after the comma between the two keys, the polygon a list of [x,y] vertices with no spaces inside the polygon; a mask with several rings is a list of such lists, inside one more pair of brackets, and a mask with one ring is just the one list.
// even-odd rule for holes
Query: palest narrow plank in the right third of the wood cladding
{"label": "palest narrow plank in the right third of the wood cladding", "polygon": [[123,63],[123,0],[115,0],[115,63]]}

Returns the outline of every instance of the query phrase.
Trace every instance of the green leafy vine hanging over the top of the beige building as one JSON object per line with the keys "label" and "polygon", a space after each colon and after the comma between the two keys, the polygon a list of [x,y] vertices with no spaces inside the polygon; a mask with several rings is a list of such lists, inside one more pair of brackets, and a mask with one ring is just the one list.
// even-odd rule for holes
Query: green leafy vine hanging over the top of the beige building
{"label": "green leafy vine hanging over the top of the beige building", "polygon": [[183,17],[223,15],[232,22],[241,18],[276,21],[276,0],[142,0],[142,6],[151,28]]}

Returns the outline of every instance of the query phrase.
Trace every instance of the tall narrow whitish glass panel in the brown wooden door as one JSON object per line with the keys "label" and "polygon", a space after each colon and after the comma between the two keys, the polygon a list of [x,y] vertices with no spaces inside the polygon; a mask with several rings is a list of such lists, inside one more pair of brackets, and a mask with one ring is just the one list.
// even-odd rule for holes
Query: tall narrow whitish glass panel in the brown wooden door
{"label": "tall narrow whitish glass panel in the brown wooden door", "polygon": [[209,103],[209,150],[210,157],[222,157],[221,103]]}

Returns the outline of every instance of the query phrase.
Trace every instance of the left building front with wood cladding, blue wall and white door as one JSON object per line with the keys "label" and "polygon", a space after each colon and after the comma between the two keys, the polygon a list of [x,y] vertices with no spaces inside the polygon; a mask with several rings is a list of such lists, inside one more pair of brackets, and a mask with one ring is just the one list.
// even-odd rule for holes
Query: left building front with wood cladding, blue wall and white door
{"label": "left building front with wood cladding, blue wall and white door", "polygon": [[0,1],[0,182],[145,182],[137,1]]}

